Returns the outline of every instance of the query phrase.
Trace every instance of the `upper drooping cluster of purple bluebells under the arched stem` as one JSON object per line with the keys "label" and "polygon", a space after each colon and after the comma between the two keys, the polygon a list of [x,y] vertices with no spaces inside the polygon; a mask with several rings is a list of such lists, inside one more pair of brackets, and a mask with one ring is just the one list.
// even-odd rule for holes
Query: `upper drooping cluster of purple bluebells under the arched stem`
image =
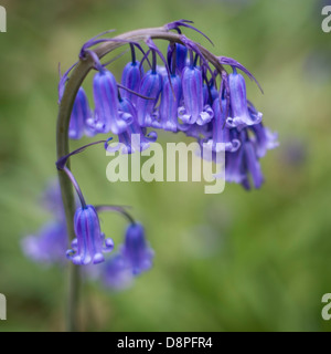
{"label": "upper drooping cluster of purple bluebells under the arched stem", "polygon": [[[167,25],[169,31],[180,33],[180,43],[170,42],[166,55],[151,38],[146,40],[147,51],[136,42],[126,41],[131,60],[124,66],[120,83],[90,50],[94,44],[111,39],[88,41],[81,58],[92,55],[95,61],[95,108],[89,108],[81,87],[72,112],[70,136],[117,135],[121,144],[111,149],[124,146],[122,153],[132,154],[157,139],[157,133],[148,134],[148,128],[182,132],[206,145],[214,155],[225,153],[227,181],[248,189],[250,176],[254,187],[259,188],[264,180],[259,159],[267,149],[278,145],[277,134],[264,126],[263,114],[247,100],[245,79],[238,71],[257,81],[235,60],[202,52],[200,44],[181,33],[183,25],[192,28],[189,21]],[[137,50],[142,52],[140,61]],[[232,73],[227,73],[225,65],[232,67]],[[60,100],[67,74],[60,83]],[[139,146],[134,144],[132,134],[140,136]]]}

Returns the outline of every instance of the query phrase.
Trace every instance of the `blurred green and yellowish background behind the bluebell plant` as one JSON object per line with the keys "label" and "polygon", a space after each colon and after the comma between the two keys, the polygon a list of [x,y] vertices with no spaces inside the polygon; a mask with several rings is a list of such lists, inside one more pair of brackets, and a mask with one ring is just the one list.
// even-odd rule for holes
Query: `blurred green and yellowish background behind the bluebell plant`
{"label": "blurred green and yellowish background behind the bluebell plant", "polygon": [[[55,176],[57,63],[68,67],[81,45],[105,30],[182,18],[215,48],[185,34],[254,73],[265,94],[248,83],[248,96],[279,133],[280,147],[261,162],[260,190],[226,185],[221,195],[204,195],[200,184],[110,184],[102,148],[75,157],[88,201],[134,206],[156,250],[154,267],[131,289],[84,287],[82,329],[331,330],[321,317],[321,298],[331,292],[331,33],[321,30],[323,4],[1,1],[8,32],[0,33],[0,293],[8,299],[8,321],[0,331],[64,330],[64,269],[33,263],[20,247],[50,219],[38,200]],[[113,65],[117,77],[124,63]],[[120,242],[125,222],[103,219],[106,235]]]}

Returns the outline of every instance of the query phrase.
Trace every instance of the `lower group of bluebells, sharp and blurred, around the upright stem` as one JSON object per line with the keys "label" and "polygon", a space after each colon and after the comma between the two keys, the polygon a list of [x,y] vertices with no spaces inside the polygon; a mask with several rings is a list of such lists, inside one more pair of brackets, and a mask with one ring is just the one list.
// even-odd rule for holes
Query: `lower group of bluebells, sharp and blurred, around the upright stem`
{"label": "lower group of bluebells, sharp and blurred, around the upright stem", "polygon": [[[129,216],[124,243],[118,251],[105,260],[104,252],[111,252],[114,242],[105,239],[100,230],[98,212],[104,210],[120,211],[111,206],[77,207],[74,227],[76,239],[72,249],[66,251],[68,236],[66,231],[61,190],[58,185],[47,187],[42,198],[43,207],[53,215],[53,220],[45,223],[38,236],[26,236],[22,240],[22,249],[26,257],[35,262],[46,264],[64,264],[66,259],[77,266],[98,264],[96,269],[85,268],[88,278],[99,278],[111,289],[124,289],[132,279],[152,266],[153,251],[146,240],[143,227]],[[95,277],[97,275],[97,277]]]}

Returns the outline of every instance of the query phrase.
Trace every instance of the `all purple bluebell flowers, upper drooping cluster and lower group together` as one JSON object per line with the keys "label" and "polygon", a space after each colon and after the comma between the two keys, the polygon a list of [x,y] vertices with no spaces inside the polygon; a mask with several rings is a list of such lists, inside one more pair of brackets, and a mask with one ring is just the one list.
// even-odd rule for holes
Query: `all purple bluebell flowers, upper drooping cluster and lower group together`
{"label": "all purple bluebell flowers, upper drooping cluster and lower group together", "polygon": [[[146,35],[139,35],[140,40],[143,38],[146,49],[124,37],[96,37],[81,50],[79,60],[90,60],[96,71],[93,79],[94,110],[84,88],[76,87],[68,137],[81,139],[84,135],[111,134],[118,136],[119,144],[113,147],[108,146],[108,140],[90,143],[61,156],[56,163],[57,169],[67,175],[79,199],[73,220],[76,238],[66,257],[76,266],[103,263],[102,279],[113,288],[121,288],[132,277],[150,269],[153,251],[146,240],[143,227],[125,208],[86,204],[74,175],[66,167],[71,156],[98,143],[106,143],[108,150],[121,148],[124,154],[140,153],[158,137],[154,131],[148,129],[182,133],[195,138],[203,149],[206,147],[215,163],[217,154],[225,155],[225,179],[249,189],[252,184],[255,188],[261,186],[264,177],[259,159],[278,145],[277,134],[264,126],[263,114],[247,100],[242,73],[259,86],[258,82],[237,61],[216,56],[183,35],[182,27],[204,35],[191,23],[175,21],[157,29],[157,34],[153,34],[153,29],[146,30]],[[154,43],[156,38],[169,41],[166,54]],[[120,81],[107,69],[109,63],[100,62],[103,55],[93,50],[96,44],[107,42],[130,46],[131,58],[124,66]],[[139,60],[138,52],[141,55]],[[60,80],[60,104],[76,64]],[[225,66],[231,69],[231,73]],[[140,138],[135,138],[137,135]],[[51,198],[46,198],[46,204],[56,209],[56,222],[43,228],[39,237],[28,237],[23,241],[25,253],[39,261],[63,260],[65,254],[68,237],[63,209],[54,207],[60,200],[57,195],[49,192]],[[114,250],[114,242],[102,231],[99,212],[105,210],[120,212],[129,221],[124,244],[108,260],[104,254]]]}

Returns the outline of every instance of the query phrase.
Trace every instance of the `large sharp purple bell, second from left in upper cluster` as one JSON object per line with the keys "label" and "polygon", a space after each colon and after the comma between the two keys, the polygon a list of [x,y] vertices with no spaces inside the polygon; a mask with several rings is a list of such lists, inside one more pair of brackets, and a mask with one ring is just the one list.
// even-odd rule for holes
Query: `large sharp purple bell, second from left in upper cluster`
{"label": "large sharp purple bell, second from left in upper cluster", "polygon": [[118,88],[115,76],[103,70],[96,73],[93,81],[95,102],[94,126],[99,133],[120,134],[128,123],[118,115]]}

